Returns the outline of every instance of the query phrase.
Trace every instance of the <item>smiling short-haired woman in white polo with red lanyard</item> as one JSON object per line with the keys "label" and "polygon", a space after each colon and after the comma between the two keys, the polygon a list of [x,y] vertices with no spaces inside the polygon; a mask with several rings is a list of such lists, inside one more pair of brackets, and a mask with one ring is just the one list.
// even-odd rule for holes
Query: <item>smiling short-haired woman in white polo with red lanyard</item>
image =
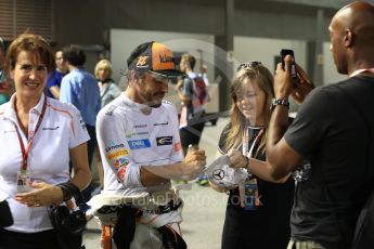
{"label": "smiling short-haired woman in white polo with red lanyard", "polygon": [[90,137],[79,110],[43,94],[54,70],[52,49],[42,37],[23,34],[10,44],[4,74],[16,91],[0,106],[0,193],[8,196],[14,222],[0,228],[3,249],[62,249],[48,208],[68,200],[59,184],[83,189],[91,181]]}

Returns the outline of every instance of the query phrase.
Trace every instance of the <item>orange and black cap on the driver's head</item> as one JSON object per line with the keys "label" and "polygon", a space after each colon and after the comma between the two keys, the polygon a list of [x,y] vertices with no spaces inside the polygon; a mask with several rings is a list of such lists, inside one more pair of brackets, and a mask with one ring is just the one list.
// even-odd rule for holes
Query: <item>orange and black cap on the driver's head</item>
{"label": "orange and black cap on the driver's head", "polygon": [[183,76],[183,73],[176,69],[172,51],[156,41],[138,45],[127,58],[127,66],[129,70],[150,70],[166,78]]}

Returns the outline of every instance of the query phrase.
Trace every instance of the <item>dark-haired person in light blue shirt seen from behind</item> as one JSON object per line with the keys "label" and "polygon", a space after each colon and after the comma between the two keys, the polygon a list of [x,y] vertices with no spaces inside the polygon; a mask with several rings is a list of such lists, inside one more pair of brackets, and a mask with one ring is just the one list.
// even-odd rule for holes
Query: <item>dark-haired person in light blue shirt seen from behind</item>
{"label": "dark-haired person in light blue shirt seen from behind", "polygon": [[[63,49],[63,57],[66,61],[68,74],[61,82],[60,101],[70,103],[77,107],[82,117],[90,141],[87,143],[88,162],[91,167],[93,153],[98,145],[95,122],[101,108],[100,90],[98,80],[93,75],[83,69],[86,53],[78,45],[69,45]],[[85,200],[91,198],[92,187],[83,191]]]}

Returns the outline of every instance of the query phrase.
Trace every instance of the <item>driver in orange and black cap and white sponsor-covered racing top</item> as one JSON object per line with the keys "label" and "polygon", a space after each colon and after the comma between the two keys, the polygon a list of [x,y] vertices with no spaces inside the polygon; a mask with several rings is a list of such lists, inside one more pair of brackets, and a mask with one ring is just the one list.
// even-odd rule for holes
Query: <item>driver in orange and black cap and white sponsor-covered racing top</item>
{"label": "driver in orange and black cap and white sponsor-covered racing top", "polygon": [[[91,201],[107,196],[106,201],[117,204],[131,199],[115,215],[117,248],[164,248],[168,244],[186,248],[179,226],[182,200],[171,191],[170,179],[196,178],[206,156],[195,149],[183,158],[177,109],[163,100],[169,80],[181,73],[175,69],[172,51],[154,41],[137,47],[127,65],[128,88],[98,115],[104,189]],[[106,206],[93,208],[94,215],[108,214]]]}

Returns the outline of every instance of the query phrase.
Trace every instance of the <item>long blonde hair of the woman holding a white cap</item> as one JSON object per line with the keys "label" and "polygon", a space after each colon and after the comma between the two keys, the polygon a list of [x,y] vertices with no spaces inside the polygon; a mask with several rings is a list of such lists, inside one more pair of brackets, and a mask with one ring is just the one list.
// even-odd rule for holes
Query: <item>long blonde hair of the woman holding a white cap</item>
{"label": "long blonde hair of the woman holding a white cap", "polygon": [[[234,78],[230,86],[230,96],[232,100],[230,109],[231,129],[228,133],[224,144],[224,149],[227,152],[231,148],[237,148],[241,145],[243,133],[247,127],[247,120],[236,105],[237,92],[242,92],[243,88],[249,83],[256,83],[265,92],[266,105],[263,107],[263,114],[266,116],[265,120],[267,127],[271,115],[271,99],[274,96],[273,81],[274,78],[271,75],[270,70],[262,65],[242,68],[234,75]],[[256,155],[260,150],[265,153],[266,137],[267,131],[265,131],[265,134],[262,134],[260,145],[256,150]]]}

